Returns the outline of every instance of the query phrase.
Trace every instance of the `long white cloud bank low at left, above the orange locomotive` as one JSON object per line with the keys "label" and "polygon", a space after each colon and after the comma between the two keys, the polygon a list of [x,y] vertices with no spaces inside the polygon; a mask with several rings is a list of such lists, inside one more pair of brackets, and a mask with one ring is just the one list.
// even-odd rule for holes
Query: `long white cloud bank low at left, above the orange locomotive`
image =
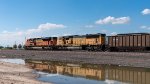
{"label": "long white cloud bank low at left, above the orange locomotive", "polygon": [[[44,35],[44,32],[46,30],[51,29],[59,29],[59,28],[65,28],[63,24],[52,24],[52,23],[46,23],[46,24],[40,24],[37,28],[34,29],[28,29],[28,30],[15,30],[14,32],[10,32],[7,30],[4,30],[0,33],[0,45],[13,45],[14,42],[18,43],[24,43],[25,37],[39,37],[42,33]],[[35,34],[36,33],[36,34]]]}

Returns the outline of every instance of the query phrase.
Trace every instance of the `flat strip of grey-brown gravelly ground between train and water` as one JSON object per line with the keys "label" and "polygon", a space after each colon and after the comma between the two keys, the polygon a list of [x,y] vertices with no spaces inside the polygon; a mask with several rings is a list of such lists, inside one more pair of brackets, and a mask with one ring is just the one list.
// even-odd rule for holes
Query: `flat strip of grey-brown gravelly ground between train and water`
{"label": "flat strip of grey-brown gravelly ground between train and water", "polygon": [[21,58],[150,68],[150,52],[1,50],[0,58]]}

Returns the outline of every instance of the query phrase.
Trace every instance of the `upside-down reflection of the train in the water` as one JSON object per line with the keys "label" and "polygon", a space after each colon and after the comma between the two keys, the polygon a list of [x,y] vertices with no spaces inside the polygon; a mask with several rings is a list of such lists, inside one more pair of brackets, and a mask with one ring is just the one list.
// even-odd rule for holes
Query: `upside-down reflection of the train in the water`
{"label": "upside-down reflection of the train in the water", "polygon": [[73,64],[45,60],[25,60],[25,62],[32,69],[51,74],[61,74],[98,81],[113,80],[120,83],[150,84],[150,69],[148,68]]}

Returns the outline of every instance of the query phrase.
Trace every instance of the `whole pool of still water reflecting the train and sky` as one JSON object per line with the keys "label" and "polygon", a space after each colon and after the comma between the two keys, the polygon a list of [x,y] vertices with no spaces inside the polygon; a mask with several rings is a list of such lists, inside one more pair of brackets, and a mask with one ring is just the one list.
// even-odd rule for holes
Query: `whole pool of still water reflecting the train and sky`
{"label": "whole pool of still water reflecting the train and sky", "polygon": [[[9,59],[7,62],[12,60],[15,59]],[[36,70],[39,74],[38,80],[54,84],[150,84],[149,68],[48,60],[24,60],[21,61],[21,64],[23,63]]]}

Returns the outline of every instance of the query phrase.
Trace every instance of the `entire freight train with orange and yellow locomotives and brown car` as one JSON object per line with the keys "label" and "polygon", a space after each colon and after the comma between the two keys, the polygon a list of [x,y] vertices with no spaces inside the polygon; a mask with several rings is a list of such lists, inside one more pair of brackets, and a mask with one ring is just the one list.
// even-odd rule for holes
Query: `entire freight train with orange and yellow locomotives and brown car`
{"label": "entire freight train with orange and yellow locomotives and brown car", "polygon": [[27,39],[25,49],[34,48],[48,50],[148,51],[150,50],[150,33],[127,33],[115,36],[97,33]]}

